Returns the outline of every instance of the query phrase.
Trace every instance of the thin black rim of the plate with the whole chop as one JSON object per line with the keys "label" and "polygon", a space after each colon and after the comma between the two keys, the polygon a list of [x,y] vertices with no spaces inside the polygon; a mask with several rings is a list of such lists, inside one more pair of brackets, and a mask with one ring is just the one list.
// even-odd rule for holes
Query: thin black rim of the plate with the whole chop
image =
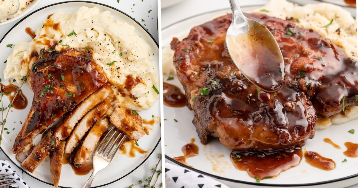
{"label": "thin black rim of the plate with the whole chop", "polygon": [[[263,4],[262,4],[263,5]],[[260,4],[258,5],[252,5],[252,6],[262,6]],[[248,6],[241,6],[241,7],[250,7],[250,5]],[[205,15],[205,14],[212,14],[212,13],[216,13],[216,12],[220,12],[220,11],[225,11],[225,10],[230,10],[230,9],[218,9],[218,10],[213,10],[213,11],[208,11],[208,12],[204,12],[204,13],[201,13],[201,14],[197,14],[197,15],[194,15],[194,16],[190,16],[188,18],[185,18],[185,19],[182,19],[182,20],[179,20],[173,24],[170,24],[168,26],[166,26],[165,28],[162,29],[162,33],[164,30],[166,29],[169,29],[170,27],[172,26],[175,26],[176,24],[179,24],[179,23],[182,23],[183,21],[187,21],[187,20],[190,20],[190,19],[193,19],[193,18],[196,18],[197,16],[202,16],[202,15]],[[344,177],[344,178],[338,178],[338,179],[333,179],[333,180],[328,180],[328,181],[323,181],[323,182],[315,182],[315,183],[306,183],[306,184],[269,184],[269,183],[255,183],[255,182],[246,182],[246,181],[242,181],[242,180],[236,180],[236,179],[230,179],[230,178],[224,178],[224,177],[221,177],[221,176],[218,176],[218,175],[214,175],[214,174],[211,174],[211,173],[208,173],[208,172],[204,172],[202,170],[198,170],[198,169],[195,169],[195,168],[192,168],[192,167],[189,167],[185,164],[182,164],[182,163],[179,163],[178,161],[176,161],[175,159],[171,158],[170,156],[168,155],[165,155],[165,159],[168,159],[169,161],[177,164],[177,165],[180,165],[184,168],[188,168],[190,170],[193,170],[197,173],[201,173],[201,174],[204,174],[204,175],[207,175],[209,177],[213,177],[213,178],[216,178],[216,179],[221,179],[221,180],[225,180],[225,181],[228,181],[228,182],[234,182],[234,183],[242,183],[242,184],[249,184],[249,185],[257,185],[257,186],[269,186],[269,187],[305,187],[305,186],[313,186],[313,185],[322,185],[322,184],[327,184],[327,183],[334,183],[334,182],[339,182],[339,181],[343,181],[343,180],[346,180],[346,179],[350,179],[350,178],[355,178],[355,177],[358,177],[358,173],[357,174],[353,174],[353,175],[350,175],[350,176],[347,176],[347,177]]]}

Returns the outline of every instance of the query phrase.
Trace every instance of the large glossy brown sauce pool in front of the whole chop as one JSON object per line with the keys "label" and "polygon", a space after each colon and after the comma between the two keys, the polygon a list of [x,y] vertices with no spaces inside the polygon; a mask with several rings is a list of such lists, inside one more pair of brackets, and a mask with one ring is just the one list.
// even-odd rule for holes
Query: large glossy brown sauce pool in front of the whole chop
{"label": "large glossy brown sauce pool in front of the whole chop", "polygon": [[301,148],[265,152],[232,151],[231,161],[239,170],[245,170],[252,178],[265,179],[300,164],[303,152]]}

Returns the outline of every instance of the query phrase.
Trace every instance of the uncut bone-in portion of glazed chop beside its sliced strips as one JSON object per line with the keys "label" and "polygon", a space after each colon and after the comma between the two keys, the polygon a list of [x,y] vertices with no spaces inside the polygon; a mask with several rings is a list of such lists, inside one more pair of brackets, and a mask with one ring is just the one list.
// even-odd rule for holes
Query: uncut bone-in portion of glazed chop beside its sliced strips
{"label": "uncut bone-in portion of glazed chop beside its sliced strips", "polygon": [[81,49],[44,52],[28,79],[34,99],[15,139],[14,153],[107,82],[91,54]]}

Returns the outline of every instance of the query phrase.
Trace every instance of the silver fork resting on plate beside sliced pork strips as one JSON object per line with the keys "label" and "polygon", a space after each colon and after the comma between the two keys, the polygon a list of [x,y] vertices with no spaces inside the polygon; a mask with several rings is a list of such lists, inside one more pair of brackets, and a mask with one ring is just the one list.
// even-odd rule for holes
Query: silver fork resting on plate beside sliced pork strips
{"label": "silver fork resting on plate beside sliced pork strips", "polygon": [[[122,145],[126,135],[116,131],[112,126],[106,136],[98,144],[93,154],[93,172],[82,188],[90,188],[93,178],[100,170],[106,168],[116,154],[118,148]],[[119,142],[118,142],[119,140]],[[118,144],[118,145],[117,145]]]}

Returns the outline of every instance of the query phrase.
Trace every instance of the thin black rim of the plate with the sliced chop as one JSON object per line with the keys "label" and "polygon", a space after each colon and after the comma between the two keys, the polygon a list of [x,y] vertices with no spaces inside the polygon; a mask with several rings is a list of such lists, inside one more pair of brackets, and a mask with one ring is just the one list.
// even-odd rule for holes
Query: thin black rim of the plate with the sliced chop
{"label": "thin black rim of the plate with the sliced chop", "polygon": [[[50,4],[50,5],[47,5],[47,6],[44,6],[42,8],[39,8],[35,11],[33,11],[32,13],[26,15],[23,19],[21,19],[20,21],[18,21],[13,27],[11,27],[11,29],[6,32],[6,34],[4,35],[4,37],[0,40],[0,43],[4,40],[4,38],[6,37],[6,35],[8,35],[19,23],[21,23],[22,21],[24,21],[26,18],[28,18],[29,16],[33,15],[34,13],[37,13],[38,11],[42,10],[42,9],[46,9],[46,8],[49,8],[51,6],[55,6],[55,5],[59,5],[59,4],[64,4],[64,3],[90,3],[90,4],[95,4],[95,5],[101,5],[101,6],[105,6],[107,8],[110,8],[112,10],[115,10],[115,11],[118,11],[122,14],[124,14],[125,16],[129,17],[130,19],[132,19],[133,21],[135,21],[135,23],[137,23],[147,34],[149,34],[149,36],[151,37],[151,39],[154,41],[154,43],[157,45],[157,47],[159,48],[159,45],[158,43],[155,41],[155,39],[153,38],[153,36],[144,28],[144,26],[142,26],[137,20],[135,20],[134,18],[132,18],[130,15],[124,13],[123,11],[121,10],[118,10],[112,6],[108,6],[108,5],[105,5],[105,4],[102,4],[102,3],[97,3],[97,2],[91,2],[91,1],[65,1],[65,2],[60,2],[60,3],[54,3],[54,4]],[[112,181],[112,182],[109,182],[109,183],[106,183],[106,184],[103,184],[103,185],[100,185],[100,186],[96,186],[96,187],[103,187],[103,186],[106,186],[106,185],[109,185],[111,183],[114,183],[124,177],[126,177],[127,175],[131,174],[134,170],[136,170],[137,168],[139,168],[148,158],[149,156],[151,156],[154,152],[154,150],[156,149],[156,147],[159,145],[160,143],[160,140],[161,138],[159,138],[158,142],[156,143],[155,147],[153,148],[153,150],[150,152],[150,154],[137,166],[135,167],[133,170],[131,170],[129,173],[125,174],[124,176]],[[3,150],[1,148],[1,150]],[[4,154],[6,155],[7,158],[9,158],[9,156],[4,152]],[[9,158],[10,159],[10,158]],[[10,159],[11,162],[13,162],[11,159]],[[14,162],[13,162],[14,163]],[[15,164],[15,163],[14,163]],[[28,174],[29,176],[31,176],[32,178],[35,178],[37,180],[39,180],[40,182],[43,182],[43,183],[46,183],[46,184],[49,184],[49,185],[53,185],[52,183],[48,183],[48,182],[45,182],[37,177],[34,177],[34,175],[30,174],[29,172],[27,172],[25,169],[23,169],[22,167],[19,167],[17,164],[15,164],[16,167],[18,167],[19,169],[21,169],[24,173]],[[58,186],[58,187],[62,187],[62,186]],[[96,187],[93,187],[93,188],[96,188]],[[72,188],[72,187],[62,187],[62,188]]]}

